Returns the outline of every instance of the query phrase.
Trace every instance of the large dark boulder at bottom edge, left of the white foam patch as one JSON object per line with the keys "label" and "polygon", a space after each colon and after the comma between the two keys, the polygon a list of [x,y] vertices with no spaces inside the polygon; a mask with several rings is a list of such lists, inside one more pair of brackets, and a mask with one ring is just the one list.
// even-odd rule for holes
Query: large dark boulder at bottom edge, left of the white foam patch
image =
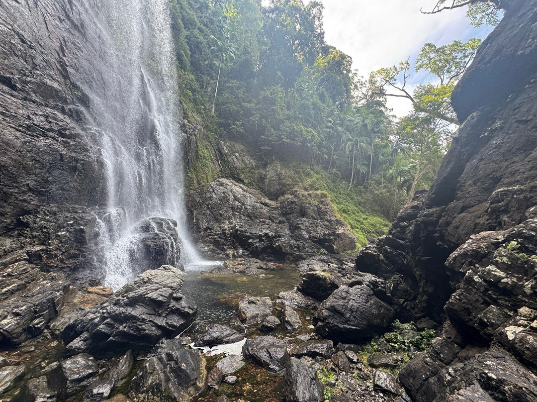
{"label": "large dark boulder at bottom edge, left of the white foam patch", "polygon": [[207,370],[199,350],[178,339],[163,340],[146,357],[129,385],[134,402],[188,402],[205,387]]}

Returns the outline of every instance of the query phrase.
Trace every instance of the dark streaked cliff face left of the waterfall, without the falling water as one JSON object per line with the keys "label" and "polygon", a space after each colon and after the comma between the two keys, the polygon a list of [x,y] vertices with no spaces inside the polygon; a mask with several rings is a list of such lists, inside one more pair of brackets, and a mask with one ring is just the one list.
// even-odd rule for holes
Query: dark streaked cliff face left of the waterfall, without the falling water
{"label": "dark streaked cliff face left of the waterfall, without the falling water", "polygon": [[103,168],[84,132],[87,98],[76,74],[91,67],[79,65],[81,53],[98,59],[89,45],[97,38],[80,7],[9,1],[0,8],[0,257],[52,246],[58,236],[64,242],[55,252],[77,248],[84,231],[62,232],[80,232],[83,212],[102,196]]}

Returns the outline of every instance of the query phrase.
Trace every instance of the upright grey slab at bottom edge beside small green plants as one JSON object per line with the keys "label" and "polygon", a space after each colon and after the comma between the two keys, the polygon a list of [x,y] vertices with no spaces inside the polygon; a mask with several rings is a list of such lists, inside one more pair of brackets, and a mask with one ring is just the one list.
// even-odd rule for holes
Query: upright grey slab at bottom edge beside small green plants
{"label": "upright grey slab at bottom edge beside small green plants", "polygon": [[323,385],[317,378],[315,362],[308,357],[287,357],[284,396],[287,402],[323,402]]}

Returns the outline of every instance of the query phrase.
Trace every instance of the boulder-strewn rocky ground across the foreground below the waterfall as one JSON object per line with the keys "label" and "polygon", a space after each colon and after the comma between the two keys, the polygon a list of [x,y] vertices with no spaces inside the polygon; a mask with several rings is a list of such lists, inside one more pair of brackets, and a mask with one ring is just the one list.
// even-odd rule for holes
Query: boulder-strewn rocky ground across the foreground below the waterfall
{"label": "boulder-strewn rocky ground across the foreground below the waterfall", "polygon": [[[29,270],[21,267],[9,272],[14,275],[18,268],[17,276],[23,278]],[[273,269],[273,264],[250,258],[232,260],[205,275],[222,270],[259,275]],[[55,298],[56,313],[41,328],[37,323],[43,318],[28,309],[1,321],[0,398],[409,400],[397,371],[428,346],[437,324],[425,320],[390,327],[391,315],[371,309],[359,320],[342,319],[341,291],[356,295],[352,308],[357,311],[366,311],[372,301],[384,304],[373,295],[381,295],[382,281],[354,272],[349,256],[318,256],[301,261],[296,269],[302,279],[294,290],[272,299],[243,296],[231,302],[237,321],[214,324],[201,333],[184,332],[197,308],[182,295],[182,271],[168,265],[143,272],[115,293],[103,286],[80,291],[68,282],[49,284],[50,289],[39,289],[35,303]],[[3,293],[9,293],[12,285],[3,283]],[[24,290],[12,293],[20,298]],[[351,315],[352,308],[347,311]],[[369,321],[378,326],[365,326]],[[333,340],[319,335],[328,327]],[[370,342],[372,335],[376,338]]]}

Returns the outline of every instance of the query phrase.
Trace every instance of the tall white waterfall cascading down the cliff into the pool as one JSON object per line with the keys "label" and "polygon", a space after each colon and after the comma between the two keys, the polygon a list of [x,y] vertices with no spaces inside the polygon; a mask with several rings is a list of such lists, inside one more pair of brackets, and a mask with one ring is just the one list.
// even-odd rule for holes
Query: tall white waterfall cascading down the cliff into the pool
{"label": "tall white waterfall cascading down the cliff into the pool", "polygon": [[119,289],[161,263],[199,262],[186,231],[183,137],[168,0],[86,0],[105,71],[82,89],[104,160],[97,214],[105,285]]}

